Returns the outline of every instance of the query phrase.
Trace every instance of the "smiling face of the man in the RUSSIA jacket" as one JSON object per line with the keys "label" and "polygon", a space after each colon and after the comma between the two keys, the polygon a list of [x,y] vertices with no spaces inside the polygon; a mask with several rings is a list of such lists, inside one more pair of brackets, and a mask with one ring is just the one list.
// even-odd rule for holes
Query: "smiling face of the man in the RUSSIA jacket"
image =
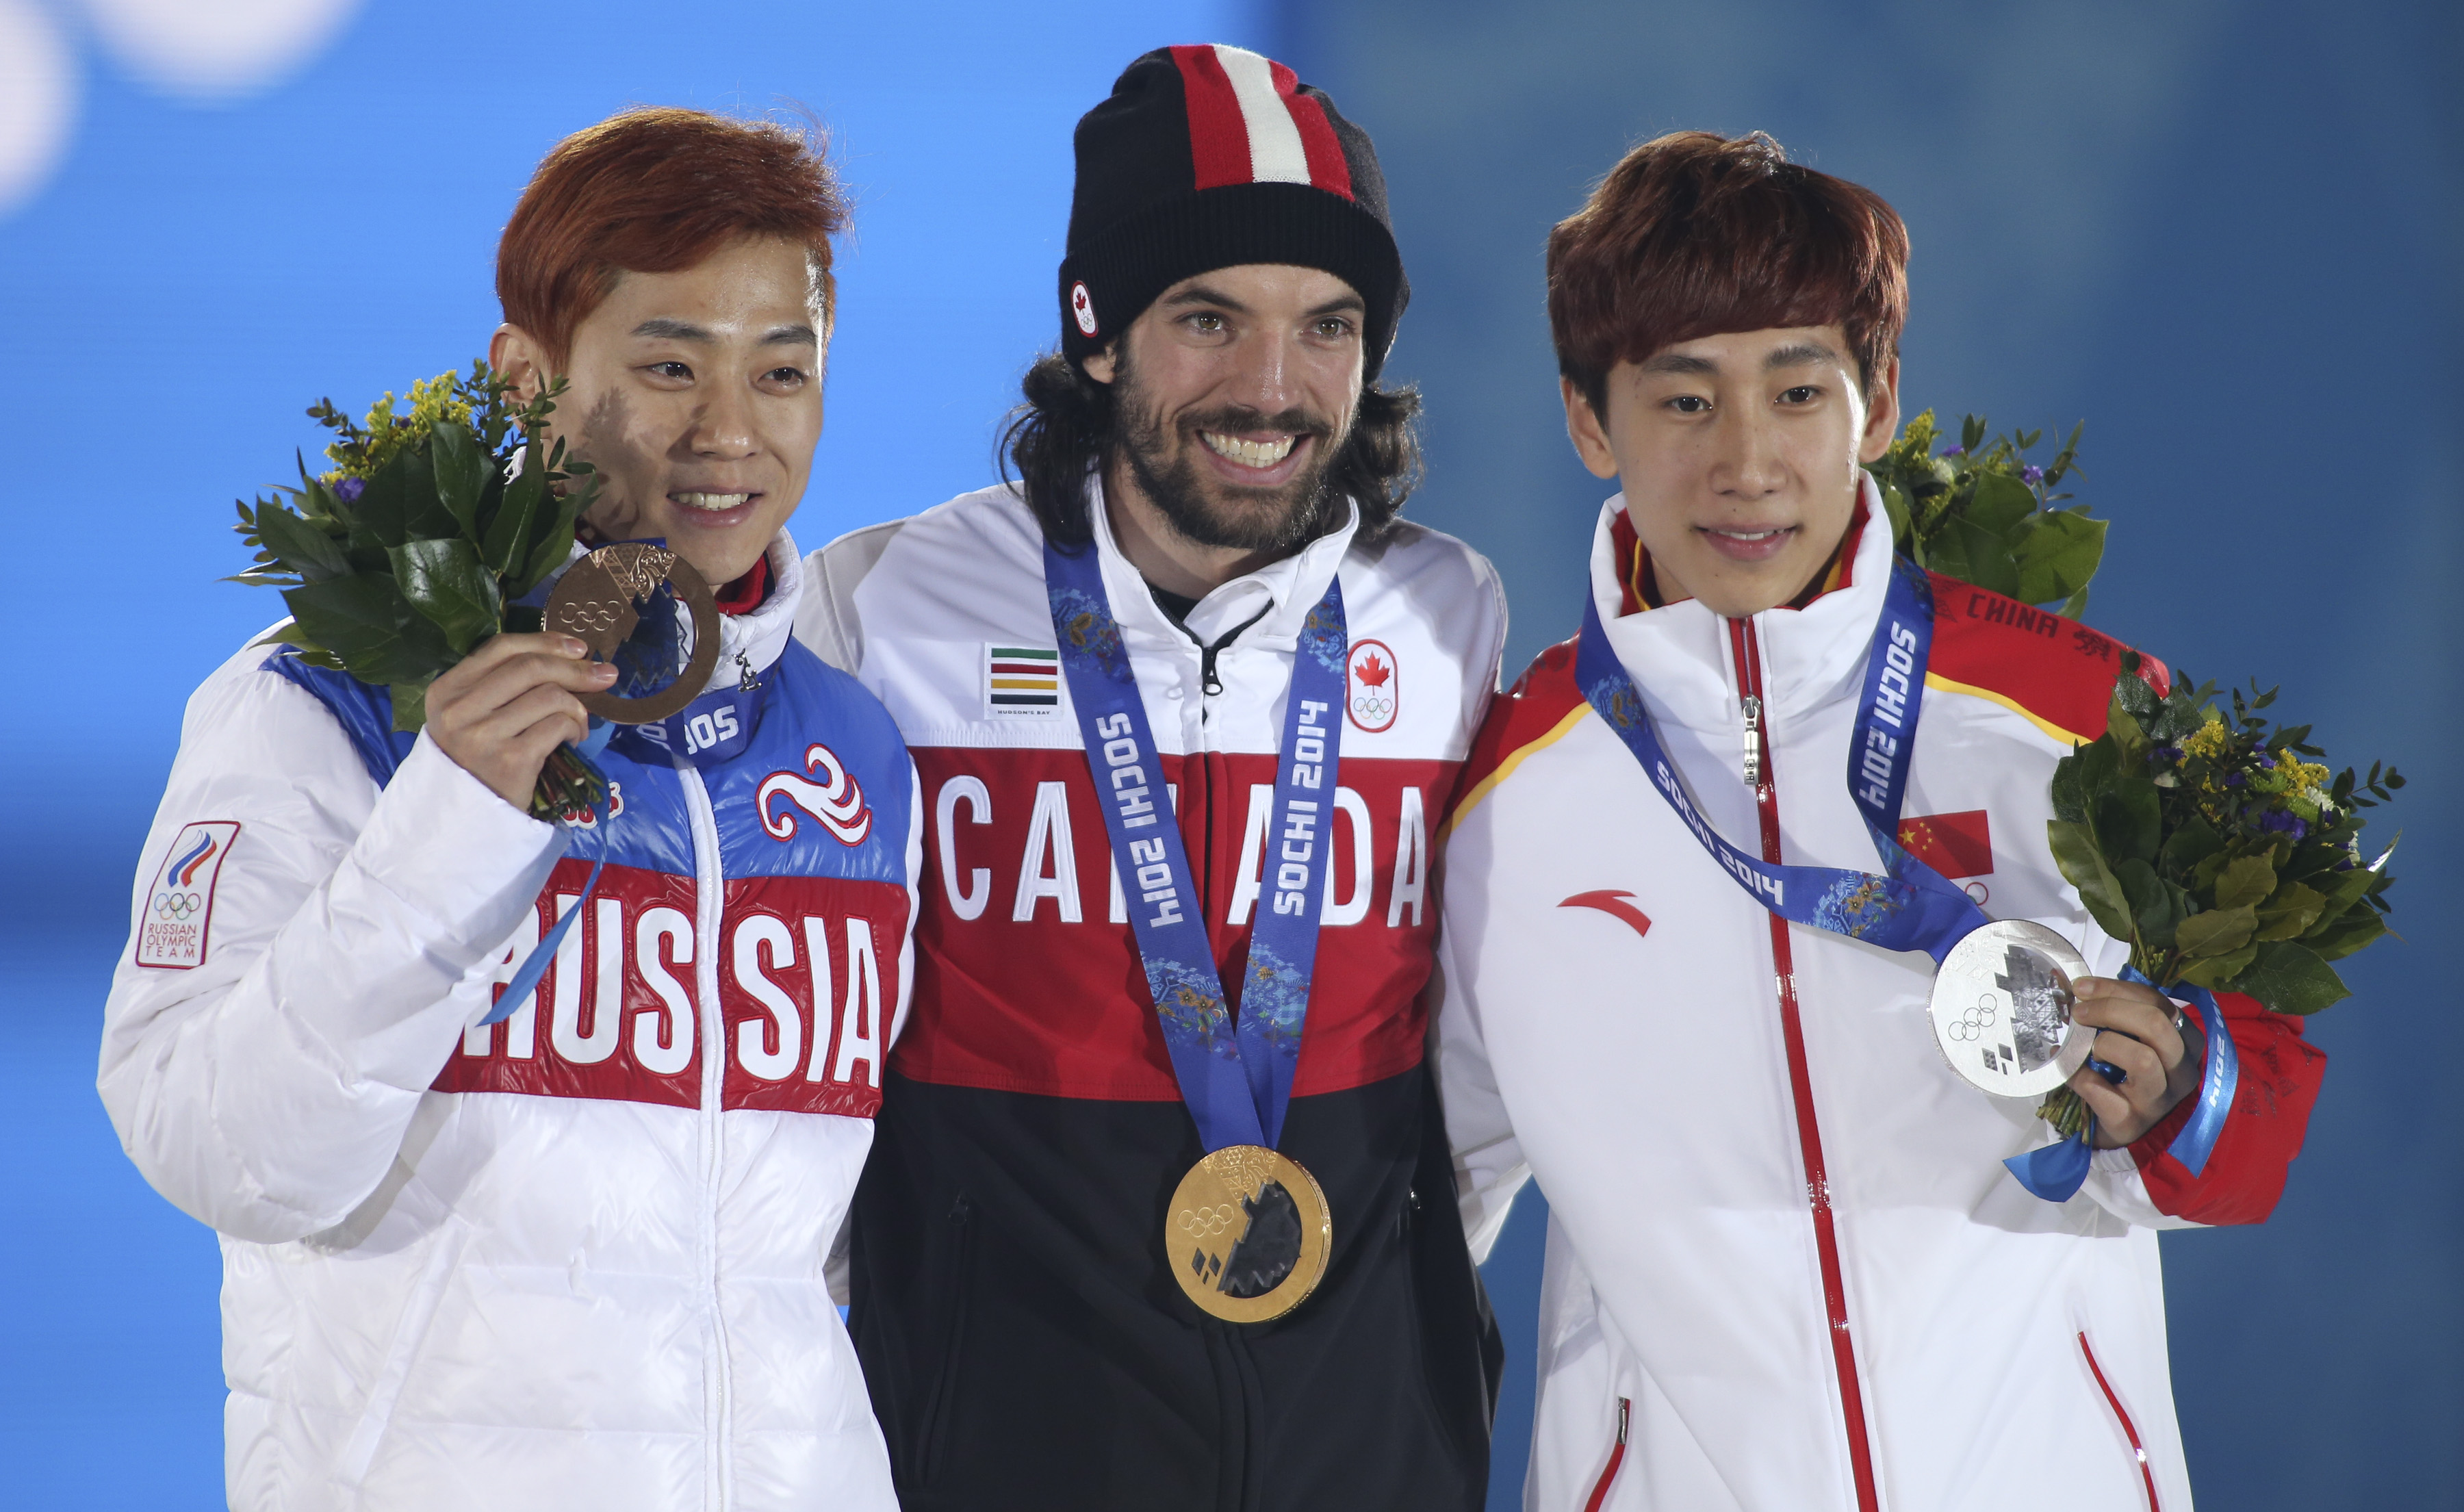
{"label": "smiling face of the man in the RUSSIA jacket", "polygon": [[[584,522],[660,537],[710,584],[744,576],[803,500],[828,318],[803,246],[742,239],[675,273],[623,273],[574,328],[554,431],[599,470]],[[505,325],[488,362],[549,369]]]}

